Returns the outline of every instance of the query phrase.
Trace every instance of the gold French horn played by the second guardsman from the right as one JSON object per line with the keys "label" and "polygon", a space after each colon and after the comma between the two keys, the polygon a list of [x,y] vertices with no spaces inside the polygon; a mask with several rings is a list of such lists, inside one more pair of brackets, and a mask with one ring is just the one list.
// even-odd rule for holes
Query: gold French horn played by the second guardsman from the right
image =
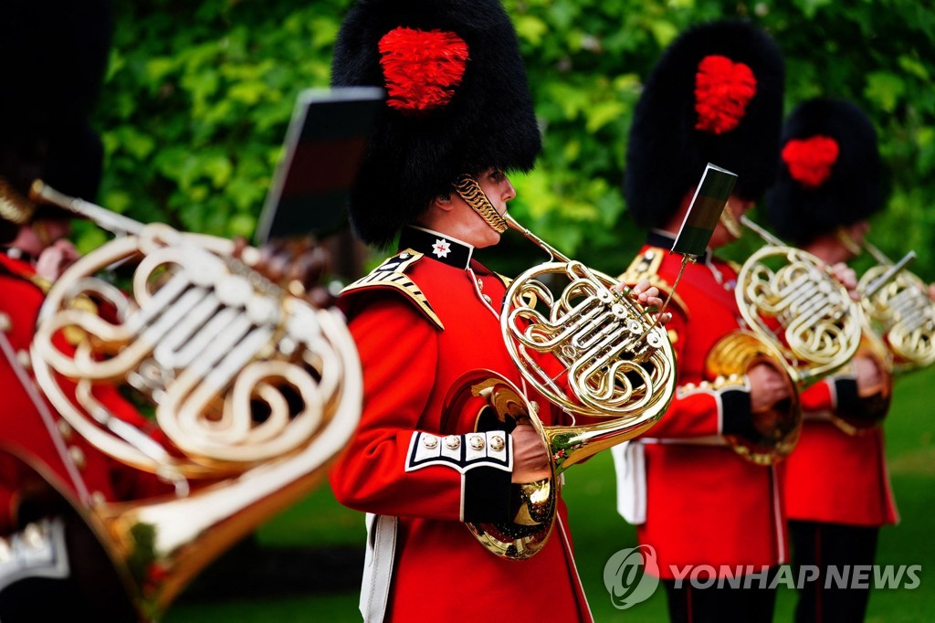
{"label": "gold French horn played by the second guardsman from the right", "polygon": [[715,344],[705,368],[715,384],[739,382],[756,362],[785,372],[793,398],[756,416],[757,439],[730,439],[741,456],[769,465],[788,456],[798,442],[798,391],[851,360],[860,346],[863,317],[821,260],[784,244],[745,216],[740,223],[767,242],[743,263],[734,290],[748,329]]}

